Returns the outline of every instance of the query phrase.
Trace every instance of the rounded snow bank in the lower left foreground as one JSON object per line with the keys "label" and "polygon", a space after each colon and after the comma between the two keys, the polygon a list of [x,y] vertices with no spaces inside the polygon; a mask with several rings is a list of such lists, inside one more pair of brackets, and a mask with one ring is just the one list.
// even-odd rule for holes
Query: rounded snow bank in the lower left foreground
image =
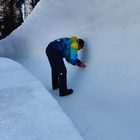
{"label": "rounded snow bank in the lower left foreground", "polygon": [[43,85],[16,62],[0,58],[1,140],[83,140]]}

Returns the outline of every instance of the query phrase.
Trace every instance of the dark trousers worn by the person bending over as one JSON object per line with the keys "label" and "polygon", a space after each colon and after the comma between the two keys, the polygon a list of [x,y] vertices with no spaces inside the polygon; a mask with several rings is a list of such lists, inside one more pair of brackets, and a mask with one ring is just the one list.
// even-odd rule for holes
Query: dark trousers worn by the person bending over
{"label": "dark trousers worn by the person bending over", "polygon": [[52,86],[59,87],[59,93],[64,94],[67,91],[67,69],[63,61],[63,52],[48,45],[46,54],[51,66]]}

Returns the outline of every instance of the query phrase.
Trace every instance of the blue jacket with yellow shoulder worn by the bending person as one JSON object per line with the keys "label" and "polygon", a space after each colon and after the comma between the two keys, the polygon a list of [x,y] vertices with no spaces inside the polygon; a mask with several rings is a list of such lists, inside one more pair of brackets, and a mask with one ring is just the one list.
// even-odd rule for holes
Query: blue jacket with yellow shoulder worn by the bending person
{"label": "blue jacket with yellow shoulder worn by the bending person", "polygon": [[81,61],[78,59],[78,38],[60,38],[52,41],[51,46],[57,51],[63,52],[63,57],[72,65],[80,65]]}

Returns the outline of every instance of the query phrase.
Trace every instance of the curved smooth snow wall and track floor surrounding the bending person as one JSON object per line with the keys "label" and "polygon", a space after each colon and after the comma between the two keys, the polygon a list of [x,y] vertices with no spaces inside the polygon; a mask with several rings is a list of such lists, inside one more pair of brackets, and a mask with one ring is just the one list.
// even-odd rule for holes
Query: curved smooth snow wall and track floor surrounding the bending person
{"label": "curved smooth snow wall and track floor surrounding the bending person", "polygon": [[[140,1],[41,0],[26,22],[0,41],[0,55],[20,62],[50,91],[85,140],[140,139]],[[51,90],[45,54],[53,39],[85,40],[67,64],[71,96]]]}

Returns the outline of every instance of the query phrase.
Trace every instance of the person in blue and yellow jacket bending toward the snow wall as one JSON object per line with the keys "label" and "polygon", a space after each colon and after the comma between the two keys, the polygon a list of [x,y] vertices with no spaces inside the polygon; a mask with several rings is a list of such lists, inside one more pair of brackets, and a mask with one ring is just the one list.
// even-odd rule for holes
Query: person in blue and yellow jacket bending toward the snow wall
{"label": "person in blue and yellow jacket bending toward the snow wall", "polygon": [[77,50],[82,49],[84,40],[75,36],[60,38],[50,42],[46,48],[46,54],[51,66],[52,88],[59,88],[59,95],[66,96],[73,93],[67,88],[67,69],[63,58],[72,65],[85,68],[84,62],[78,59]]}

